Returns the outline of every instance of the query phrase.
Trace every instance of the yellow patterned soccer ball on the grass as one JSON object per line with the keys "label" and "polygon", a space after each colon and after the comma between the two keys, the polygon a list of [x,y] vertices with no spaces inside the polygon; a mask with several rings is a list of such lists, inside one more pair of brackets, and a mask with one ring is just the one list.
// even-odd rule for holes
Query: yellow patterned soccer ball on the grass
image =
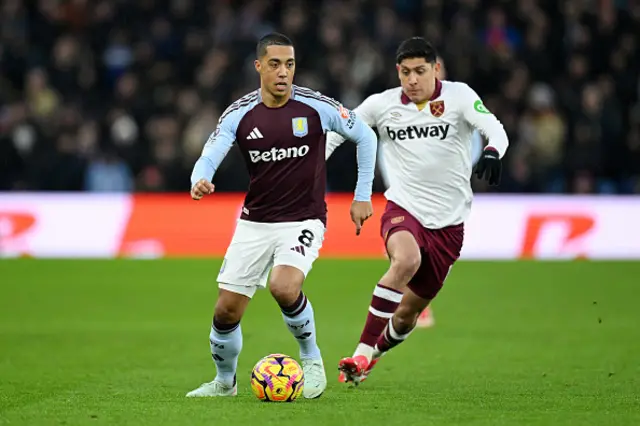
{"label": "yellow patterned soccer ball on the grass", "polygon": [[302,367],[287,355],[267,355],[251,372],[251,390],[261,401],[292,402],[302,394],[303,387]]}

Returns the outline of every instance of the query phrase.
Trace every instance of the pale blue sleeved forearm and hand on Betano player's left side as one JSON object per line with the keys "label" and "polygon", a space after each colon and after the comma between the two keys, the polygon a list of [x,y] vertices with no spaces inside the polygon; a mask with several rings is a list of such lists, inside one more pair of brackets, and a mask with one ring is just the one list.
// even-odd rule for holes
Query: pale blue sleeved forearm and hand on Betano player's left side
{"label": "pale blue sleeved forearm and hand on Betano player's left side", "polygon": [[216,130],[209,136],[191,172],[191,198],[199,200],[214,191],[213,175],[236,140],[233,114],[222,114]]}

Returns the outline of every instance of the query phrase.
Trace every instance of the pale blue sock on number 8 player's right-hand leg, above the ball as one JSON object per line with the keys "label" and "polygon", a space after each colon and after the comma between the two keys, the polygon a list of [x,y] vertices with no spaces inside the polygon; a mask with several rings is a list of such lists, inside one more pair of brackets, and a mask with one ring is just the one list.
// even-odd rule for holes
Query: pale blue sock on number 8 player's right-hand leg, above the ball
{"label": "pale blue sock on number 8 player's right-hand leg, above the ball", "polygon": [[320,348],[316,343],[316,321],[313,316],[313,307],[304,293],[300,293],[300,297],[292,306],[286,309],[282,308],[282,318],[300,345],[300,358],[319,359],[321,355]]}

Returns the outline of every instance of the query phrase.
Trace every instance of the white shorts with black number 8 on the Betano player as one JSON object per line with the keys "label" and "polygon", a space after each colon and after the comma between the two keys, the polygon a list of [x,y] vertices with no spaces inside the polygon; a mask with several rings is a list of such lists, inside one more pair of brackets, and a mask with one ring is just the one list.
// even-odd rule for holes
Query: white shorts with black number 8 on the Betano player
{"label": "white shorts with black number 8 on the Betano player", "polygon": [[306,277],[320,254],[325,227],[319,219],[263,223],[238,219],[220,267],[221,289],[253,297],[266,288],[271,268],[293,266]]}

